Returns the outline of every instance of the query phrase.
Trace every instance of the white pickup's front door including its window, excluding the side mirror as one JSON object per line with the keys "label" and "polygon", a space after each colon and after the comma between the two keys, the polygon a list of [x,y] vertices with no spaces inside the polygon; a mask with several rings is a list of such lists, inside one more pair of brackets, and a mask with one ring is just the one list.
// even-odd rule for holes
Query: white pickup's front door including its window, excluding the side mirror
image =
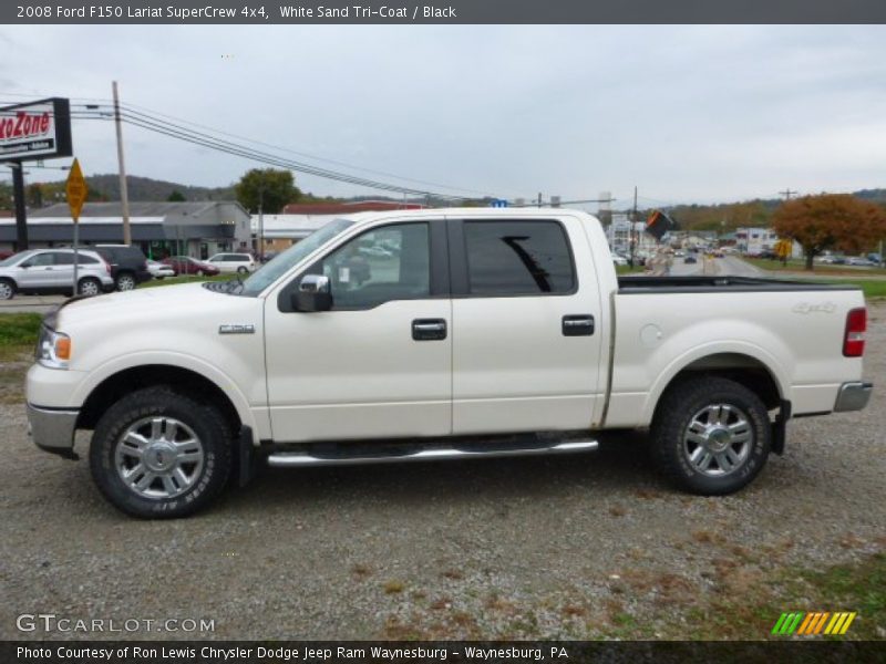
{"label": "white pickup's front door including its window, excluding the side mirror", "polygon": [[332,310],[292,311],[303,274],[265,304],[277,442],[442,436],[452,427],[452,303],[444,221],[375,226],[307,272]]}

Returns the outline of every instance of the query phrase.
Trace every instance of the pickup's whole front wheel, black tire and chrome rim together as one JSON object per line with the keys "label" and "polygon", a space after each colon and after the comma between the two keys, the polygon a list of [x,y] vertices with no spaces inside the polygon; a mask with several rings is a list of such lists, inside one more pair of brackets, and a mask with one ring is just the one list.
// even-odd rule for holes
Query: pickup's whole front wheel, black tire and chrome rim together
{"label": "pickup's whole front wheel, black tire and chrome rim together", "polygon": [[99,421],[92,477],[117,509],[152,519],[206,507],[230,473],[233,434],[214,406],[167,387],[124,396]]}

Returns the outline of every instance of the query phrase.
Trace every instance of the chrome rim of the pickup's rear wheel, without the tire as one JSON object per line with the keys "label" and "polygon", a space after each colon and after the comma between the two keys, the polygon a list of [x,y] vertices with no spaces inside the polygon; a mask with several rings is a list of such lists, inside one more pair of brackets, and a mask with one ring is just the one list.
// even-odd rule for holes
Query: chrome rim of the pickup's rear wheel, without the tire
{"label": "chrome rim of the pickup's rear wheel, without the tire", "polygon": [[748,415],[730,404],[710,404],[692,416],[683,449],[692,468],[711,477],[740,468],[751,453],[753,427]]}

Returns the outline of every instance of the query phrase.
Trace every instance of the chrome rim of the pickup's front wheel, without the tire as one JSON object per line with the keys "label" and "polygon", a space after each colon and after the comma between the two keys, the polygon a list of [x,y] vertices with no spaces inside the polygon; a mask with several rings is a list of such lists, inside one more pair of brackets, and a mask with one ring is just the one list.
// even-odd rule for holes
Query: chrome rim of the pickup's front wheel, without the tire
{"label": "chrome rim of the pickup's front wheel, without the tire", "polygon": [[121,436],[114,453],[117,475],[143,498],[174,498],[200,476],[203,443],[174,417],[145,417]]}

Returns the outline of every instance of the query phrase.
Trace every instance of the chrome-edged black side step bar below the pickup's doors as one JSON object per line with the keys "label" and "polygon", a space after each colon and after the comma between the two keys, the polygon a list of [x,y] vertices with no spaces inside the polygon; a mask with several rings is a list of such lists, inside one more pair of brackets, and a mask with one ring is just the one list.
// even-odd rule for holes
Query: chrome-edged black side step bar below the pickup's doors
{"label": "chrome-edged black side step bar below the pickup's doors", "polygon": [[357,466],[362,464],[398,464],[401,461],[437,461],[443,459],[478,459],[493,457],[540,456],[553,454],[571,454],[597,449],[597,440],[569,440],[552,445],[532,447],[499,447],[497,449],[455,449],[453,447],[434,447],[413,449],[404,454],[361,454],[359,443],[354,443],[356,456],[337,454],[336,456],[315,456],[309,453],[275,453],[268,456],[268,465],[275,468],[297,468],[318,466]]}

